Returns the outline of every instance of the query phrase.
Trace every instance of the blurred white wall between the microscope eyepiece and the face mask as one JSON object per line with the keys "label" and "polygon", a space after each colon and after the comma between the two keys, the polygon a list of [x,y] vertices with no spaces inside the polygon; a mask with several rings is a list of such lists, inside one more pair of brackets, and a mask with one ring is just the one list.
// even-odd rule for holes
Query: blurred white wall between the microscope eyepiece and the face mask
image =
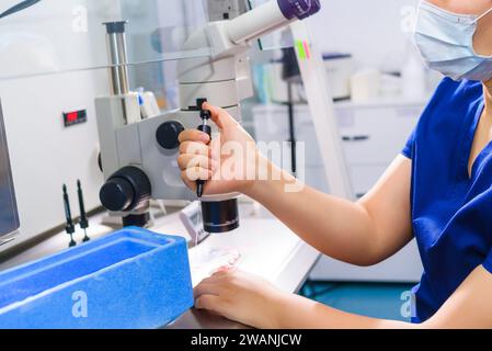
{"label": "blurred white wall between the microscope eyepiece and the face mask", "polygon": [[352,53],[358,66],[400,69],[407,36],[419,0],[321,0],[322,10],[309,19],[323,52]]}

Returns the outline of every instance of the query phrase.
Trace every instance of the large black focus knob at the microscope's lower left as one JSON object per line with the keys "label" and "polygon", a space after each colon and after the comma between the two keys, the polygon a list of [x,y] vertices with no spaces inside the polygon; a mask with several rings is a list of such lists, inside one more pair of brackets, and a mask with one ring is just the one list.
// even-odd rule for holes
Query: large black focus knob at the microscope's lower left
{"label": "large black focus knob at the microscope's lower left", "polygon": [[122,168],[111,176],[99,193],[103,206],[113,212],[133,211],[150,195],[150,180],[136,167]]}

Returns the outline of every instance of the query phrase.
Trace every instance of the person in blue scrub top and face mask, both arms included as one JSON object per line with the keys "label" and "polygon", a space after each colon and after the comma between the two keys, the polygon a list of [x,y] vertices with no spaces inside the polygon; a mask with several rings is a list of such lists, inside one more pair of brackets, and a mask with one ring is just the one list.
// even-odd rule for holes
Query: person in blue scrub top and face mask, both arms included
{"label": "person in blue scrub top and face mask, both arms included", "polygon": [[[190,188],[201,178],[209,180],[207,194],[242,192],[330,257],[371,265],[416,238],[425,273],[414,290],[413,324],[346,314],[238,271],[199,284],[197,308],[259,328],[492,328],[491,10],[491,0],[420,3],[416,44],[428,66],[448,78],[402,155],[357,203],[307,186],[287,192],[296,180],[259,154],[220,155],[199,132],[180,136],[179,163]],[[215,145],[236,141],[251,150],[253,140],[225,111],[205,107],[220,128]],[[224,165],[271,177],[227,178]]]}

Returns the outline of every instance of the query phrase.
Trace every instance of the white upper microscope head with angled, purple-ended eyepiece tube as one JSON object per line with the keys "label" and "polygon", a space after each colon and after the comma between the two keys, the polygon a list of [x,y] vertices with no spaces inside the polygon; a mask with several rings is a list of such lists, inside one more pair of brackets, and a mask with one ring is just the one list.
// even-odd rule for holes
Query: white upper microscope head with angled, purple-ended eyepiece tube
{"label": "white upper microscope head with angled, purple-ended eyepiece tube", "polygon": [[[319,0],[272,0],[233,20],[209,23],[193,33],[184,50],[209,48],[210,57],[180,60],[181,111],[199,110],[207,99],[222,109],[239,107],[253,94],[247,52],[251,42],[320,10]],[[241,122],[239,111],[231,115]]]}

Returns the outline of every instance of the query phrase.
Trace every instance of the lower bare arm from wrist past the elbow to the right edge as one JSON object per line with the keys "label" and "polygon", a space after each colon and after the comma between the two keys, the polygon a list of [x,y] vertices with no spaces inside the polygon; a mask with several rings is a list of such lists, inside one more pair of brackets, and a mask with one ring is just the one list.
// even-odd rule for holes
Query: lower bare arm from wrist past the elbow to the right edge
{"label": "lower bare arm from wrist past the elbow to the right edge", "polygon": [[492,275],[477,267],[439,310],[420,325],[357,316],[301,296],[272,295],[262,328],[284,329],[490,329],[492,328]]}

